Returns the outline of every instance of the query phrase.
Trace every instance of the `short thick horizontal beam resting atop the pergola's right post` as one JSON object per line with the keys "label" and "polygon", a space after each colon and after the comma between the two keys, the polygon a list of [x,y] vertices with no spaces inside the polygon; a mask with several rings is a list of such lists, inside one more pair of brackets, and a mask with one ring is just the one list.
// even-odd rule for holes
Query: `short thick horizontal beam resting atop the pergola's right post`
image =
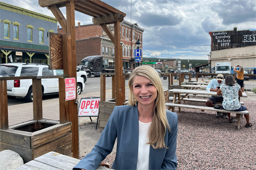
{"label": "short thick horizontal beam resting atop the pergola's right post", "polygon": [[110,14],[110,15],[103,15],[103,16],[99,16],[99,17],[94,17],[93,18],[93,23],[95,25],[99,25],[99,24],[110,24],[113,23],[115,21],[120,21],[121,19],[123,19],[123,15],[120,15],[120,13],[115,13],[115,14]]}

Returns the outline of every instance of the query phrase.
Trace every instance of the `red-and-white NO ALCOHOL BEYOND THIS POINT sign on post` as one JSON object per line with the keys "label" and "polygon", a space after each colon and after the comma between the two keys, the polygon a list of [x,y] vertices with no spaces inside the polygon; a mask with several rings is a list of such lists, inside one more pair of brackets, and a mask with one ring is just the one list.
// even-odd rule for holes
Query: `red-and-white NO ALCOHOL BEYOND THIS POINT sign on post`
{"label": "red-and-white NO ALCOHOL BEYOND THIS POINT sign on post", "polygon": [[65,78],[65,99],[67,100],[72,100],[75,99],[75,91],[76,91],[76,87],[75,87],[75,78]]}

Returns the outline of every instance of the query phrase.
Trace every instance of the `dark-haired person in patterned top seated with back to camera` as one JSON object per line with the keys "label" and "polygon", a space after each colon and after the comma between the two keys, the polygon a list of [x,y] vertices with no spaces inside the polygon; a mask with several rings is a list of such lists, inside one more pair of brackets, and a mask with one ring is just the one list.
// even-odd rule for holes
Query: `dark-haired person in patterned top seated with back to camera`
{"label": "dark-haired person in patterned top seated with back to camera", "polygon": [[[217,94],[223,96],[222,107],[227,111],[246,111],[247,108],[240,104],[239,96],[243,96],[240,85],[238,85],[232,75],[226,76],[225,84],[221,85]],[[227,113],[229,117],[229,122],[233,123],[233,118],[230,117],[230,113]],[[251,127],[252,124],[249,120],[249,114],[245,114],[244,118],[246,119],[245,127]]]}

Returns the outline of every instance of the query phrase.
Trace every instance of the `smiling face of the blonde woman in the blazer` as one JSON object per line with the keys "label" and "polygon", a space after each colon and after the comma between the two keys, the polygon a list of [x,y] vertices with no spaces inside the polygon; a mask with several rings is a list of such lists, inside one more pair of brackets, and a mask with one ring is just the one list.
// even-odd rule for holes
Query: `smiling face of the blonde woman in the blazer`
{"label": "smiling face of the blonde woman in the blazer", "polygon": [[138,105],[154,106],[157,90],[155,85],[144,76],[135,76],[133,80],[133,93]]}

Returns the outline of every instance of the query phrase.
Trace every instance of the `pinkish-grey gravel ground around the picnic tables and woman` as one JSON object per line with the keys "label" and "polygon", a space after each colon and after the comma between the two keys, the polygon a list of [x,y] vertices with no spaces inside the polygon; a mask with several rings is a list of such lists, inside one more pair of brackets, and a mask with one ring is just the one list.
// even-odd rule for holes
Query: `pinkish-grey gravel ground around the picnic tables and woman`
{"label": "pinkish-grey gravel ground around the picnic tables and woman", "polygon": [[[243,100],[242,100],[243,101]],[[243,101],[250,112],[252,127],[245,128],[245,118],[241,119],[241,130],[237,130],[237,119],[231,114],[234,123],[228,119],[216,118],[216,112],[182,108],[178,113],[177,159],[178,170],[256,170],[256,101]],[[204,105],[189,103],[188,105]],[[84,157],[96,144],[102,128],[95,130],[95,124],[80,126],[81,157]],[[96,135],[97,134],[97,135]],[[91,138],[94,137],[94,142]],[[88,139],[89,138],[89,139]],[[88,146],[88,142],[93,143]],[[86,152],[86,153],[85,153]],[[112,165],[114,150],[104,162]]]}

